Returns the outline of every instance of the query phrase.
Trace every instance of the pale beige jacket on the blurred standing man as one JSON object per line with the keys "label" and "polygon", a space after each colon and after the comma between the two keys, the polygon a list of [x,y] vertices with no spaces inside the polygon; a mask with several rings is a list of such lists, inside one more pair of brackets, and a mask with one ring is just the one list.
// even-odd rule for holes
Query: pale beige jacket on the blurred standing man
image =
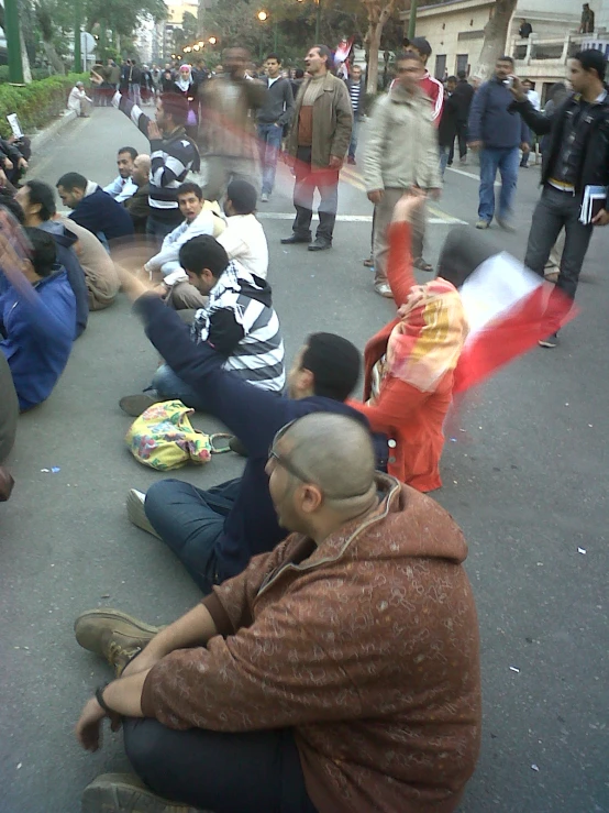
{"label": "pale beige jacket on the blurred standing man", "polygon": [[433,105],[422,90],[410,95],[394,83],[376,102],[368,128],[366,191],[442,186]]}

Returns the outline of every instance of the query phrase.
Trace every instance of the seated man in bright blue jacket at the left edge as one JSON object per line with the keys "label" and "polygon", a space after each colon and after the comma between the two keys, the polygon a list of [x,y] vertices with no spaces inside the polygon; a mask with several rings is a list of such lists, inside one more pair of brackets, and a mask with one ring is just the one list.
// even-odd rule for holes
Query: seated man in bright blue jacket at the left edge
{"label": "seated man in bright blue jacket at the left edge", "polygon": [[21,411],[51,395],[68,362],[76,323],[76,298],[56,263],[52,235],[26,227],[23,237],[27,259],[18,256],[0,232],[0,267],[10,281],[0,296],[0,351],[9,362]]}

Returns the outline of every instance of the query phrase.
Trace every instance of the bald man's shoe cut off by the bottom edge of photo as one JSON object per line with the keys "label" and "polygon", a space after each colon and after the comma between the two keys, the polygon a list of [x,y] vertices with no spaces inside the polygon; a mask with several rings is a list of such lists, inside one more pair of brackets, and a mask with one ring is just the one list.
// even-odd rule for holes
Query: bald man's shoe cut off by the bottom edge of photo
{"label": "bald man's shoe cut off by the bottom edge of photo", "polygon": [[[153,793],[133,773],[102,773],[82,793],[82,813],[204,813]],[[209,811],[208,811],[209,813]]]}

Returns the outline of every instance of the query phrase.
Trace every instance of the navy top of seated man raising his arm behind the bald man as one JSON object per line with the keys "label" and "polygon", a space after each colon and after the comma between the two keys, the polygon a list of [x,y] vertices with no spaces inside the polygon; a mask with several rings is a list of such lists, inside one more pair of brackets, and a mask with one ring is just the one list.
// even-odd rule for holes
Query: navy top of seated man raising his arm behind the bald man
{"label": "navy top of seated man raising his arm behind the bald man", "polygon": [[278,397],[222,370],[224,356],[207,343],[193,344],[189,327],[157,296],[140,297],[134,310],[143,318],[148,339],[167,364],[198,394],[204,395],[209,413],[236,435],[250,455],[234,507],[226,515],[223,534],[215,543],[218,572],[223,581],[241,573],[253,556],[273,550],[287,536],[277,521],[265,472],[268,449],[279,429],[315,411],[339,413],[368,424],[363,415],[342,402],[320,395],[301,400]]}

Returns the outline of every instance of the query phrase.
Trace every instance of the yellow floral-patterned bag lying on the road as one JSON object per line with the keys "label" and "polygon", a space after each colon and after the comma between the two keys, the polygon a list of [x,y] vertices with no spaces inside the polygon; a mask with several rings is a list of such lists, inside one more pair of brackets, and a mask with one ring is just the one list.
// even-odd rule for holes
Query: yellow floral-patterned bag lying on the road
{"label": "yellow floral-patterned bag lying on the road", "polygon": [[228,446],[217,449],[215,441],[231,436],[206,435],[193,429],[188,418],[193,411],[181,400],[165,400],[148,407],[133,421],[125,436],[135,460],[164,472],[188,462],[202,465],[209,463],[212,454],[228,452]]}

